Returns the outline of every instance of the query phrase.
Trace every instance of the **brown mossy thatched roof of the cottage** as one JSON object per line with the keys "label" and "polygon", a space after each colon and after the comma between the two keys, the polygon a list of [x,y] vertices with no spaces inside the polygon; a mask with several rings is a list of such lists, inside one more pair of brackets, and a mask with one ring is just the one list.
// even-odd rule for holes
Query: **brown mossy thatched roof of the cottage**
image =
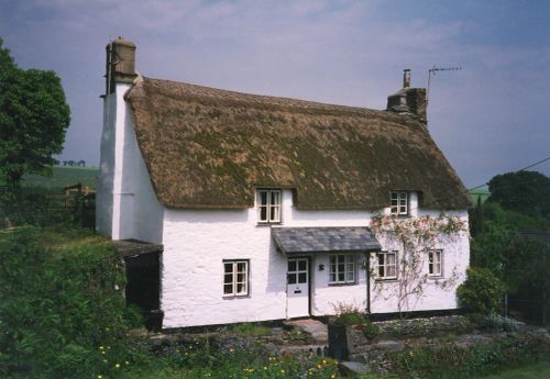
{"label": "brown mossy thatched roof of the cottage", "polygon": [[143,78],[127,93],[158,200],[249,208],[255,188],[293,188],[300,209],[370,209],[392,190],[464,209],[466,191],[426,126],[386,111]]}

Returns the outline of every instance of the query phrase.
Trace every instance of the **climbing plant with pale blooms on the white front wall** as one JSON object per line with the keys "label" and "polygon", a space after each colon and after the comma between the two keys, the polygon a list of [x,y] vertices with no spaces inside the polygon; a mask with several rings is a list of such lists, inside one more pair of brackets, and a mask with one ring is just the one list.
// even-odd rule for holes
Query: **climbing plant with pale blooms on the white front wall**
{"label": "climbing plant with pale blooms on the white front wall", "polygon": [[[399,246],[397,261],[397,283],[384,286],[384,281],[376,280],[377,296],[397,298],[399,313],[413,311],[424,293],[428,281],[426,260],[428,252],[437,248],[438,244],[454,242],[461,234],[468,235],[468,223],[458,216],[441,213],[439,216],[398,218],[395,215],[376,215],[371,220],[371,230],[376,238],[384,241],[386,246]],[[380,279],[377,270],[371,275]],[[451,288],[459,279],[457,267],[443,280],[435,283],[443,289]],[[393,289],[389,292],[385,291]]]}

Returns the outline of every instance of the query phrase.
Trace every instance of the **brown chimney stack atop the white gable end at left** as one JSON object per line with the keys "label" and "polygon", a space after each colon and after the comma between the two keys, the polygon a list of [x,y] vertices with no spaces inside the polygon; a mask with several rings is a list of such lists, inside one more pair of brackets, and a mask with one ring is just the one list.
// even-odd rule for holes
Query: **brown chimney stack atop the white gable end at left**
{"label": "brown chimney stack atop the white gable end at left", "polygon": [[117,82],[133,83],[135,73],[135,44],[122,37],[106,46],[106,93],[114,92]]}

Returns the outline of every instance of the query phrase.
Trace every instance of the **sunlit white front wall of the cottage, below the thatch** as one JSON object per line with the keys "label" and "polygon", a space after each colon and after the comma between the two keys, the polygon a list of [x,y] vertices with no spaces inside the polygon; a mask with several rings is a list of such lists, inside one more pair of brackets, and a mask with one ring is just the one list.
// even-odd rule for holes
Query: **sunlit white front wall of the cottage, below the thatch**
{"label": "sunlit white front wall of the cottage, below the thatch", "polygon": [[[410,199],[416,211],[417,198]],[[389,209],[383,210],[388,213]],[[163,327],[223,324],[286,317],[286,259],[276,250],[271,227],[257,225],[256,209],[249,210],[165,210],[163,227]],[[468,218],[465,212],[457,213]],[[293,207],[290,190],[283,191],[282,225],[288,226],[369,226],[373,213],[367,211],[299,211]],[[468,219],[465,219],[468,220]],[[392,246],[383,246],[389,248]],[[469,261],[468,237],[453,246],[443,246],[446,274],[457,264],[465,271]],[[402,248],[399,248],[402,249]],[[250,294],[226,299],[222,296],[223,259],[250,260]],[[311,256],[311,313],[334,314],[339,303],[366,306],[367,257],[356,255],[358,281],[351,286],[329,286],[329,255]],[[375,260],[371,259],[371,265]],[[319,265],[324,269],[320,270]],[[373,266],[374,267],[374,266]],[[426,268],[427,270],[427,268]],[[461,278],[463,280],[463,277]],[[371,279],[371,292],[375,285]],[[429,288],[428,288],[429,287]],[[373,312],[396,312],[392,299],[395,283],[382,283],[389,297],[371,297]],[[374,298],[374,299],[373,299]],[[441,290],[428,283],[415,310],[457,308],[454,289]]]}

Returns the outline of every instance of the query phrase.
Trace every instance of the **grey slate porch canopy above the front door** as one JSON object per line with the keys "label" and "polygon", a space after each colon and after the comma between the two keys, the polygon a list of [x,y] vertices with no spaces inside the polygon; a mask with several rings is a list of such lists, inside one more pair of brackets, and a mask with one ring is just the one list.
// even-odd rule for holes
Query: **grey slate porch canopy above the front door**
{"label": "grey slate porch canopy above the front door", "polygon": [[272,235],[279,252],[305,253],[365,253],[382,247],[369,227],[272,227]]}

